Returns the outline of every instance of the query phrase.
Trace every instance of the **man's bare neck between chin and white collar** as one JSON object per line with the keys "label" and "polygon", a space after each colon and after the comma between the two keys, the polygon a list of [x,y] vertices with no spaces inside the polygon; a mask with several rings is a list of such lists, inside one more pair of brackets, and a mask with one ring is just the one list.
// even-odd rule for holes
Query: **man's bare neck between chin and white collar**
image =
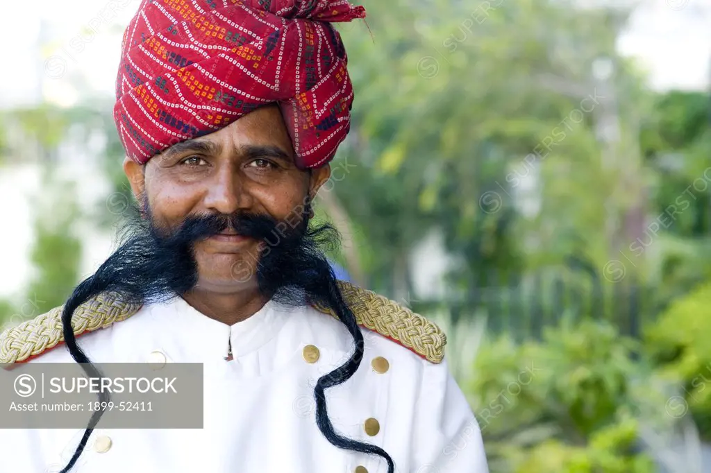
{"label": "man's bare neck between chin and white collar", "polygon": [[223,293],[193,288],[183,295],[183,299],[205,317],[226,325],[247,320],[268,301],[257,289]]}

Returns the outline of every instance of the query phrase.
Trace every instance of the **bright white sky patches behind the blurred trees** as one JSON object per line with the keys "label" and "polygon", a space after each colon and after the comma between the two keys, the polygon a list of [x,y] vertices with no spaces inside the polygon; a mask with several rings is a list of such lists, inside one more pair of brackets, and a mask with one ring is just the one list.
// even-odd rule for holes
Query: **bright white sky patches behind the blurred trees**
{"label": "bright white sky patches behind the blurred trees", "polygon": [[[42,96],[69,106],[85,92],[69,85],[77,75],[91,89],[110,97],[122,25],[139,4],[140,0],[35,0],[28,10],[27,2],[4,2],[4,17],[18,20],[6,20],[0,28],[4,63],[0,107],[31,104]],[[708,89],[710,24],[711,0],[643,0],[619,40],[619,51],[637,58],[648,70],[653,89]],[[23,47],[11,47],[14,44]],[[32,228],[26,199],[39,190],[38,185],[31,168],[0,172],[0,212],[9,228],[15,229],[0,232],[4,268],[0,297],[18,293],[30,276]],[[110,244],[105,237],[92,237],[84,271],[107,256]]]}

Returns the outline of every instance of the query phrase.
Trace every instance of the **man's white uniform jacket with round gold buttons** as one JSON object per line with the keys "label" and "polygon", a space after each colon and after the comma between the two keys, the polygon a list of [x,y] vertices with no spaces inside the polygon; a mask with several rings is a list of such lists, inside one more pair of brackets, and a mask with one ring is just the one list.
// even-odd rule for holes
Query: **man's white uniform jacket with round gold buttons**
{"label": "man's white uniform jacket with round gold buttons", "polygon": [[[334,427],[382,447],[397,472],[488,473],[479,427],[442,359],[442,347],[428,354],[418,335],[408,339],[407,331],[414,332],[402,325],[403,314],[417,317],[421,332],[437,336],[439,329],[387,304],[396,315],[376,321],[375,330],[363,330],[365,352],[358,371],[326,390]],[[42,330],[48,324],[57,330],[59,313],[50,312]],[[373,328],[372,317],[359,321]],[[387,473],[381,457],[334,447],[316,426],[314,384],[353,350],[351,336],[334,317],[310,306],[287,308],[272,301],[230,327],[178,298],[113,322],[103,321],[99,330],[77,338],[88,357],[95,362],[203,363],[204,425],[114,430],[100,423],[72,473]],[[30,324],[0,336],[0,363],[27,356],[17,348],[32,339],[28,330],[40,329]],[[387,337],[378,331],[388,332]],[[226,361],[230,345],[233,359]],[[316,361],[305,356],[309,345],[318,349]],[[306,352],[313,355],[313,347]],[[62,343],[24,361],[73,362]],[[7,380],[2,383],[11,383],[11,370],[2,376]],[[59,472],[82,433],[0,430],[0,473]]]}

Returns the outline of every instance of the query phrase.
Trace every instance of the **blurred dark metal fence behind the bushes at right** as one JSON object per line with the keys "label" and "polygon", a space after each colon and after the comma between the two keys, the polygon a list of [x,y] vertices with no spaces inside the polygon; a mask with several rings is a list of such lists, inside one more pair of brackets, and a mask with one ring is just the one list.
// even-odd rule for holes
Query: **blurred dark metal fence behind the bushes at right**
{"label": "blurred dark metal fence behind the bushes at right", "polygon": [[640,337],[643,325],[656,320],[668,304],[658,288],[634,276],[613,283],[579,267],[488,276],[488,283],[473,284],[466,293],[413,302],[412,308],[420,313],[446,310],[454,321],[486,315],[489,332],[506,332],[522,341],[540,339],[545,327],[582,320],[604,320],[621,335]]}

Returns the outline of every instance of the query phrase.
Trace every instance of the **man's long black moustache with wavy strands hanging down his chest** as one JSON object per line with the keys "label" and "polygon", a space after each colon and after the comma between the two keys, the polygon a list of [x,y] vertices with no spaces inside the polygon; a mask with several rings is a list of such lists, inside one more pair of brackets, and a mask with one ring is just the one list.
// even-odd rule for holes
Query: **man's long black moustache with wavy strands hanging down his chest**
{"label": "man's long black moustache with wavy strands hanging down his chest", "polygon": [[[385,450],[365,442],[358,442],[336,433],[328,418],[325,390],[351,379],[363,360],[363,333],[351,308],[343,301],[336,276],[322,248],[338,241],[338,232],[328,224],[309,229],[307,205],[297,228],[284,229],[279,222],[266,215],[211,214],[188,217],[173,231],[154,226],[150,210],[144,201],[143,215],[138,207],[131,207],[119,248],[109,256],[96,273],[82,281],[65,303],[62,312],[63,335],[72,358],[92,378],[102,377],[77,345],[71,318],[80,305],[105,292],[120,293],[132,304],[161,303],[182,296],[198,281],[198,269],[193,245],[232,227],[239,234],[262,240],[266,246],[257,262],[256,279],[260,293],[286,305],[319,303],[331,308],[353,337],[355,349],[349,359],[316,382],[316,424],[326,439],[344,450],[383,457],[388,473],[395,472],[395,464]],[[147,216],[144,218],[144,216]],[[101,392],[102,406],[109,394]],[[60,473],[74,467],[87,442],[102,418],[104,411],[92,414],[74,455]]]}

